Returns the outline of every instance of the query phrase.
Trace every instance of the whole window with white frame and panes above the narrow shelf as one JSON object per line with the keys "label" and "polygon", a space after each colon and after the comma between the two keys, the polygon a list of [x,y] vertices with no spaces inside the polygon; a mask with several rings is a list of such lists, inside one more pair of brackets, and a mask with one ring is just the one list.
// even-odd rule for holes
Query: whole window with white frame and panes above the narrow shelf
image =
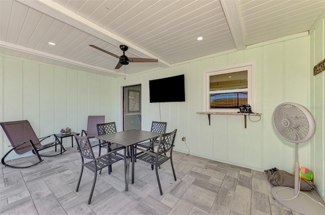
{"label": "whole window with white frame and panes above the narrow shelf", "polygon": [[254,110],[253,73],[253,63],[205,71],[206,111],[238,112],[247,104]]}

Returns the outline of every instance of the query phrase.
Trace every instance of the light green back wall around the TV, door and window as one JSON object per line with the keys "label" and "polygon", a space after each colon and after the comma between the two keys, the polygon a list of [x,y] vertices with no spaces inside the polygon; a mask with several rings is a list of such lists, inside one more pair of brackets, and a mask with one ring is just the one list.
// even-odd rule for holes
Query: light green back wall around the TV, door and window
{"label": "light green back wall around the TV, door and window", "polygon": [[[257,122],[248,120],[245,130],[243,117],[211,115],[209,126],[207,115],[197,114],[197,111],[204,111],[204,71],[246,62],[255,62],[254,111],[262,113],[262,119]],[[152,120],[167,121],[167,131],[178,129],[175,150],[188,151],[181,141],[185,136],[192,155],[256,170],[277,167],[293,173],[295,144],[277,134],[272,114],[275,107],[283,102],[295,102],[310,109],[311,73],[310,36],[296,36],[281,42],[254,45],[243,51],[192,60],[169,69],[145,72],[127,77],[126,80],[117,79],[114,81],[114,101],[120,103],[118,90],[121,86],[141,83],[142,128],[149,130]],[[149,103],[149,80],[179,74],[185,74],[186,101],[160,103],[159,114],[159,104]],[[320,88],[323,89],[323,85]],[[319,97],[323,97],[323,90],[319,91],[322,91]],[[115,120],[119,119],[119,114]],[[323,123],[320,116],[316,115],[316,120]],[[301,166],[315,172],[316,186],[320,189],[318,192],[324,196],[324,165],[321,165],[324,162],[324,141],[321,134],[317,146],[311,141],[300,144],[299,161]],[[318,156],[314,157],[315,152]],[[320,165],[315,168],[314,163]]]}

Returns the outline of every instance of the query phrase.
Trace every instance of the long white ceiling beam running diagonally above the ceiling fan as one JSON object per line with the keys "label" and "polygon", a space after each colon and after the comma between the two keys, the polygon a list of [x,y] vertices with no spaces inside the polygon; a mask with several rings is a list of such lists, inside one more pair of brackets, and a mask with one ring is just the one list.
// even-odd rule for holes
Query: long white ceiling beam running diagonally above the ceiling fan
{"label": "long white ceiling beam running diagonally above the ceiling fan", "polygon": [[133,43],[128,42],[127,40],[113,34],[109,30],[89,21],[88,19],[60,6],[59,4],[53,1],[40,1],[40,0],[16,0],[30,8],[34,8],[44,14],[47,14],[57,20],[67,23],[71,26],[74,26],[94,37],[97,37],[105,42],[108,42],[112,45],[119,47],[120,44],[127,45],[132,47],[134,50],[133,53],[146,58],[156,58],[158,59],[158,65],[161,67],[171,67],[172,65],[167,63],[165,60],[158,58],[157,56],[151,54],[150,52],[136,46]]}

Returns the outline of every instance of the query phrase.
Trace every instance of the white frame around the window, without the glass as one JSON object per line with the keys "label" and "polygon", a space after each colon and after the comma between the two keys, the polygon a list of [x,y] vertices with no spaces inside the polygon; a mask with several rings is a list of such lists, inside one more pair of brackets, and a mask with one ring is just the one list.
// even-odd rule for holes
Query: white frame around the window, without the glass
{"label": "white frame around the window, without the glass", "polygon": [[[210,76],[228,74],[247,70],[248,88],[247,103],[255,110],[255,63],[236,64],[204,71],[204,110],[207,112],[239,112],[239,108],[213,108],[210,109]],[[226,92],[225,92],[226,93]]]}

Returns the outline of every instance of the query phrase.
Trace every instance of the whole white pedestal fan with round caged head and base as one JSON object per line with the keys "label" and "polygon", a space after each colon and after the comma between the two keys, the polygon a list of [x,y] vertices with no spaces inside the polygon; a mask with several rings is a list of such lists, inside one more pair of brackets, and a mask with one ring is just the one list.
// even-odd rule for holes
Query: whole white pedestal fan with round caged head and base
{"label": "whole white pedestal fan with round caged head and base", "polygon": [[302,214],[325,214],[325,208],[307,195],[299,193],[299,143],[308,141],[315,134],[315,119],[308,109],[296,103],[282,103],[273,112],[273,125],[278,134],[296,143],[295,189],[274,187],[273,197],[284,206]]}

